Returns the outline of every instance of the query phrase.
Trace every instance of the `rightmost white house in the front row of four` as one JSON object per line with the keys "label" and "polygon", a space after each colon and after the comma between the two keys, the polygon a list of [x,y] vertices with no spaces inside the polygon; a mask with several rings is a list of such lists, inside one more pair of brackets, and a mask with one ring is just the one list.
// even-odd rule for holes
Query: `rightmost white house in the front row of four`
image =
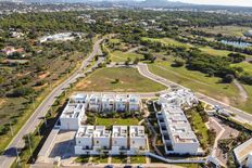
{"label": "rightmost white house in the front row of four", "polygon": [[129,127],[129,154],[140,154],[144,152],[147,147],[147,137],[143,126],[130,126]]}

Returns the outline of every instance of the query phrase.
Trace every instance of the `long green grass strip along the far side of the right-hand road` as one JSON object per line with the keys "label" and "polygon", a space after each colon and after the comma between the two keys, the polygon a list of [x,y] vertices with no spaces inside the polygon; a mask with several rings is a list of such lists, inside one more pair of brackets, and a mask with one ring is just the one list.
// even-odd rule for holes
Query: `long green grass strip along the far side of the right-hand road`
{"label": "long green grass strip along the far side of the right-hand road", "polygon": [[171,64],[172,60],[167,62],[158,61],[154,64],[149,64],[149,69],[193,91],[201,92],[248,113],[252,113],[252,86],[244,86],[250,98],[247,102],[242,102],[239,98],[239,90],[234,83],[222,83],[219,82],[220,78],[207,77],[205,74],[188,70],[185,67],[172,67]]}

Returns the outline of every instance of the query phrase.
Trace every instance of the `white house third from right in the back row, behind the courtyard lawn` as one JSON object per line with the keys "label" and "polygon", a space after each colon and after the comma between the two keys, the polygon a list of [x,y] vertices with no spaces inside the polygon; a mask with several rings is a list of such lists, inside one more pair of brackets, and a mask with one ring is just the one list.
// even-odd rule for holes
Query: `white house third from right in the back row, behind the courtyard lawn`
{"label": "white house third from right in the back row, behind the courtyard lawn", "polygon": [[114,112],[115,111],[115,95],[103,94],[102,96],[102,112]]}

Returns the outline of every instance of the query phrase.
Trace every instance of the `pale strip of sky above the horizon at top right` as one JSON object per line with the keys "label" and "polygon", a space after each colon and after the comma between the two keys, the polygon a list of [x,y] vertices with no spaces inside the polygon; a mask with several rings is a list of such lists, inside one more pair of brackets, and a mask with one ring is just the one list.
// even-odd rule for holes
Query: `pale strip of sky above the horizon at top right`
{"label": "pale strip of sky above the horizon at top right", "polygon": [[197,4],[220,4],[220,5],[242,5],[252,7],[252,0],[171,0]]}

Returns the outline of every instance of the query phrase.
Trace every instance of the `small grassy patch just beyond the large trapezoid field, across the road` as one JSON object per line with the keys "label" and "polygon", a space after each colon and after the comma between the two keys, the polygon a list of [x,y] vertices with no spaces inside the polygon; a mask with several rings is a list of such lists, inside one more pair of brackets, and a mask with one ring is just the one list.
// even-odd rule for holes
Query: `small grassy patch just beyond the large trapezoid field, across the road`
{"label": "small grassy patch just beyond the large trapezoid field, across the road", "polygon": [[137,54],[137,53],[126,53],[126,52],[122,52],[122,51],[114,51],[110,53],[111,55],[111,61],[112,62],[125,62],[127,61],[127,59],[129,57],[131,61],[134,61],[136,57],[138,59],[143,59],[143,55],[141,54]]}

